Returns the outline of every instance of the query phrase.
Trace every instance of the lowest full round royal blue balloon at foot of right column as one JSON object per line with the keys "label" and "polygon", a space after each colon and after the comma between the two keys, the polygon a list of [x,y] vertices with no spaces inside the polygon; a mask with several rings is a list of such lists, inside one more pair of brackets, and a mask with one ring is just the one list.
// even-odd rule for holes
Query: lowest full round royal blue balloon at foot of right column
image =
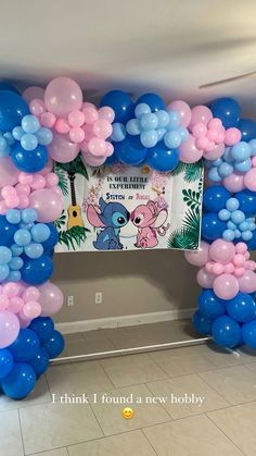
{"label": "lowest full round royal blue balloon at foot of right column", "polygon": [[228,316],[219,317],[213,323],[213,337],[221,347],[233,348],[241,341],[240,325]]}

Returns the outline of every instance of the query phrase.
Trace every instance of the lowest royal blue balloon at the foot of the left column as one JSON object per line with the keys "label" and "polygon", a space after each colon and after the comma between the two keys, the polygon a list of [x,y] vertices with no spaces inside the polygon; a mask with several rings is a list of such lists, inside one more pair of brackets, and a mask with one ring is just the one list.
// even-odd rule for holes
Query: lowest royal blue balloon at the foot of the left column
{"label": "lowest royal blue balloon at the foot of the left column", "polygon": [[33,368],[25,362],[16,362],[7,375],[1,386],[4,394],[12,399],[23,399],[35,387],[36,374]]}

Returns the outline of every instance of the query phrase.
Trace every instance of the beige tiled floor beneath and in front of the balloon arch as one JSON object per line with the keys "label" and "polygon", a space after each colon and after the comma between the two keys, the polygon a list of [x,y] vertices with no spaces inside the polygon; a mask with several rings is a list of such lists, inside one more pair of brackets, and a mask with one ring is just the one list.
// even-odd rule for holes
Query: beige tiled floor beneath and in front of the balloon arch
{"label": "beige tiled floor beneath and in front of the balloon arch", "polygon": [[[185,321],[101,330],[66,354],[192,336]],[[197,345],[52,366],[27,399],[0,396],[0,455],[255,456],[255,422],[256,350]]]}

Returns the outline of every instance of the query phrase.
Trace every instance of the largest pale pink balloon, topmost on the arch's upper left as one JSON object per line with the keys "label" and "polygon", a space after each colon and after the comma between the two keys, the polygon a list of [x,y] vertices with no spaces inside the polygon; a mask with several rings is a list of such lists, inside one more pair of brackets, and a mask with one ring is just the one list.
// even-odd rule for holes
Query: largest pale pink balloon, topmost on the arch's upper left
{"label": "largest pale pink balloon, topmost on the arch's upper left", "polygon": [[71,111],[81,108],[82,93],[69,77],[55,77],[46,88],[44,102],[48,111],[57,116],[67,116]]}

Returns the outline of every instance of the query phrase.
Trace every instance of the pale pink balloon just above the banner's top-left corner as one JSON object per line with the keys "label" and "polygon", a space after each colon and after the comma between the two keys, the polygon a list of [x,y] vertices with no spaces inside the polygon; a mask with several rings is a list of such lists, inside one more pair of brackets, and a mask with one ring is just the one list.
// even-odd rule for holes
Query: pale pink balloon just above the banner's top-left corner
{"label": "pale pink balloon just above the banner's top-left corner", "polygon": [[52,143],[48,146],[50,157],[60,163],[68,163],[75,160],[79,152],[78,144],[74,144],[67,138],[54,133]]}

